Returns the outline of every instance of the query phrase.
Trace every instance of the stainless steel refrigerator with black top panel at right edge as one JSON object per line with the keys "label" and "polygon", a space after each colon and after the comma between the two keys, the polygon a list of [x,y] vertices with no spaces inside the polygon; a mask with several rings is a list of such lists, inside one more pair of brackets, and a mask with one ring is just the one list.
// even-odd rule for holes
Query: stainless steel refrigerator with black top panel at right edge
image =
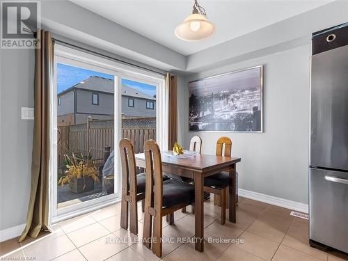
{"label": "stainless steel refrigerator with black top panel at right edge", "polygon": [[348,23],[313,33],[310,244],[348,253]]}

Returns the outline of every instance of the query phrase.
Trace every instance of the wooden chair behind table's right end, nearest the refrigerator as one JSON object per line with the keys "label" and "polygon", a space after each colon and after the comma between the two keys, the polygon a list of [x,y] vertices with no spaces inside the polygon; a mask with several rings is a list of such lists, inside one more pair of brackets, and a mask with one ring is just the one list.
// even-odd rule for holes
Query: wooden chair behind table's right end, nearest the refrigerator
{"label": "wooden chair behind table's right end, nearest the refrigerator", "polygon": [[[224,147],[224,151],[223,151]],[[216,156],[231,157],[232,141],[228,137],[221,137],[216,142]],[[221,225],[226,223],[226,198],[230,175],[226,172],[217,173],[204,178],[204,191],[220,196]]]}

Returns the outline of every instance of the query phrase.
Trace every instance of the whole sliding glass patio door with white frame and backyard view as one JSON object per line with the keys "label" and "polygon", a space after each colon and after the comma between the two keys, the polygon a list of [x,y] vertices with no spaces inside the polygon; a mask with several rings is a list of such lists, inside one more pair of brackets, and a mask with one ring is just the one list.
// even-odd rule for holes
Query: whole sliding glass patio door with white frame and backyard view
{"label": "whole sliding glass patio door with white frame and backyard view", "polygon": [[120,139],[166,144],[164,77],[56,45],[54,78],[51,223],[119,200]]}

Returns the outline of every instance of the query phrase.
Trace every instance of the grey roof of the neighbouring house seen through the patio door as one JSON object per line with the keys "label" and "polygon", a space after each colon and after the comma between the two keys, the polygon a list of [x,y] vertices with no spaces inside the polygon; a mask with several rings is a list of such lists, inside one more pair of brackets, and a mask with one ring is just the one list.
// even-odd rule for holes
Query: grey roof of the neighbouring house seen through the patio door
{"label": "grey roof of the neighbouring house seen through the patio door", "polygon": [[[66,90],[63,90],[61,93],[58,93],[58,96],[63,95],[64,93],[68,93],[74,89],[90,90],[113,94],[113,80],[106,79],[104,77],[91,76],[85,79],[84,81],[79,82],[79,84],[75,84],[74,86]],[[156,100],[155,97],[142,93],[141,91],[129,87],[125,84],[122,84],[122,95],[129,97],[137,97],[139,99],[145,100]]]}

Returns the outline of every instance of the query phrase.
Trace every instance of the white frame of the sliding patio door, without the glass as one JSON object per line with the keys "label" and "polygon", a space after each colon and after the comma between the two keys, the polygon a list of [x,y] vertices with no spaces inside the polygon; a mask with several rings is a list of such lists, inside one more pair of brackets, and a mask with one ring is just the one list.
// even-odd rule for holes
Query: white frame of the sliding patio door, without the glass
{"label": "white frame of the sliding patio door, without the glass", "polygon": [[[106,207],[120,201],[121,196],[121,175],[115,175],[114,193],[100,198],[77,203],[58,209],[57,204],[57,86],[56,72],[57,63],[95,70],[114,76],[114,169],[120,173],[120,155],[118,150],[118,141],[122,139],[122,79],[141,81],[145,84],[156,86],[156,139],[162,150],[167,150],[168,144],[168,90],[165,88],[164,75],[155,72],[149,72],[141,68],[135,68],[118,61],[114,61],[96,54],[81,52],[78,49],[72,49],[64,45],[55,45],[54,51],[54,84],[51,90],[51,128],[50,128],[50,163],[49,163],[49,224],[54,224],[74,216],[79,216],[93,210]],[[117,177],[117,178],[116,178]],[[102,181],[101,181],[102,182]]]}

